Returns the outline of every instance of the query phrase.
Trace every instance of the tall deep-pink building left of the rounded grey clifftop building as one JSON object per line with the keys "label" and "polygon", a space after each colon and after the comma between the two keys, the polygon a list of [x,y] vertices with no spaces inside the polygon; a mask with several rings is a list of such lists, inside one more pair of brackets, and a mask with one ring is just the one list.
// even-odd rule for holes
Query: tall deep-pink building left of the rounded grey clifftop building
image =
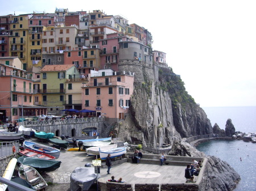
{"label": "tall deep-pink building left of the rounded grey clifftop building", "polygon": [[[120,41],[129,41],[130,37],[122,32],[111,33],[106,39],[100,40],[101,69],[118,71],[119,44]],[[131,40],[130,40],[131,41]]]}

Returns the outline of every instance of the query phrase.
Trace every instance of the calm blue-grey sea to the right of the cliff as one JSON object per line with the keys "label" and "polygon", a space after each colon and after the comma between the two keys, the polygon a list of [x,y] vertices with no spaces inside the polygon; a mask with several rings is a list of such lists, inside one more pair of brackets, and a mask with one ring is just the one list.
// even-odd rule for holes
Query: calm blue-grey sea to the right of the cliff
{"label": "calm blue-grey sea to the right of the cliff", "polygon": [[[205,107],[203,108],[212,126],[217,123],[225,130],[230,118],[236,131],[256,132],[256,107]],[[235,191],[256,190],[256,143],[242,140],[213,140],[200,143],[199,151],[217,156],[228,162],[241,176]]]}

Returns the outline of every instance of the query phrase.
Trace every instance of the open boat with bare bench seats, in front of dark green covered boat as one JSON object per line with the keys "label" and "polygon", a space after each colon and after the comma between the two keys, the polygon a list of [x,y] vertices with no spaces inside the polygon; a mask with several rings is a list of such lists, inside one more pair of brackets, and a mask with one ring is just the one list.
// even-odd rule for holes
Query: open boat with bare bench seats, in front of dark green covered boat
{"label": "open boat with bare bench seats, in front of dark green covered boat", "polygon": [[21,165],[19,167],[18,173],[19,177],[30,182],[35,190],[41,190],[48,186],[43,177],[33,167],[30,167],[28,165]]}

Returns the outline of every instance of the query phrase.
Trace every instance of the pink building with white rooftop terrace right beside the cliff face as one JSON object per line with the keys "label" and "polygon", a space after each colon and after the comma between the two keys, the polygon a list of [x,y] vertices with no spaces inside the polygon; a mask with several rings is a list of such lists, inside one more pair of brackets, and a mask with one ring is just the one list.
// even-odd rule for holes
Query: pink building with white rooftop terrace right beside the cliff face
{"label": "pink building with white rooftop terrace right beside the cliff face", "polygon": [[82,105],[106,121],[123,120],[129,111],[133,82],[134,73],[91,70],[88,84],[82,87]]}

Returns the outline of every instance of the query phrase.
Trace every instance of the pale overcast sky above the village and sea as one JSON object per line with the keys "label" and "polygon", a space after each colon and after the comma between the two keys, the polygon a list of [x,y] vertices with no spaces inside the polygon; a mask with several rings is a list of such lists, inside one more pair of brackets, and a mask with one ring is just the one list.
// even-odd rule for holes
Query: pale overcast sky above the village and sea
{"label": "pale overcast sky above the village and sea", "polygon": [[256,106],[256,1],[2,1],[0,15],[103,10],[148,29],[201,107]]}

